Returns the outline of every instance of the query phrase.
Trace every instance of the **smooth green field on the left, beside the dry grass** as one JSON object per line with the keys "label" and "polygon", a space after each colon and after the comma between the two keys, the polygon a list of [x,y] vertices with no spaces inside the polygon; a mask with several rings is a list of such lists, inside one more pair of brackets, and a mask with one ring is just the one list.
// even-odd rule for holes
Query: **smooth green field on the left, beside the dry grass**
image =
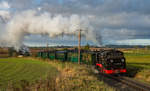
{"label": "smooth green field on the left, beside the dry grass", "polygon": [[0,59],[1,88],[6,88],[10,83],[19,87],[21,81],[34,83],[37,80],[45,79],[49,74],[55,77],[57,73],[55,67],[42,61],[24,58]]}

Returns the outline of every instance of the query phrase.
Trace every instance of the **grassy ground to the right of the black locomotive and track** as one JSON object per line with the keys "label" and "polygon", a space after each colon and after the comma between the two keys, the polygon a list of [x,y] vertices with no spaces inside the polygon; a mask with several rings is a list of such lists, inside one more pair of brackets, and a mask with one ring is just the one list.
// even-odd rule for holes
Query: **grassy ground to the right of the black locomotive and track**
{"label": "grassy ground to the right of the black locomotive and track", "polygon": [[129,50],[125,57],[129,76],[150,84],[150,50]]}

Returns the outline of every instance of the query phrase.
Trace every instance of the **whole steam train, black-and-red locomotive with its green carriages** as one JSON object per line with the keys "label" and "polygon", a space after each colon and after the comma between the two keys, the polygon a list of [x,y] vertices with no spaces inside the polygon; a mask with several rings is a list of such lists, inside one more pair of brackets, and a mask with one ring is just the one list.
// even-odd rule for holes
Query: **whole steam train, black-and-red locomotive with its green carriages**
{"label": "whole steam train, black-and-red locomotive with its green carriages", "polygon": [[[38,52],[37,57],[77,63],[78,51],[40,51]],[[81,50],[80,62],[81,64],[93,65],[99,72],[105,74],[125,74],[127,72],[124,53],[115,49],[100,51]]]}

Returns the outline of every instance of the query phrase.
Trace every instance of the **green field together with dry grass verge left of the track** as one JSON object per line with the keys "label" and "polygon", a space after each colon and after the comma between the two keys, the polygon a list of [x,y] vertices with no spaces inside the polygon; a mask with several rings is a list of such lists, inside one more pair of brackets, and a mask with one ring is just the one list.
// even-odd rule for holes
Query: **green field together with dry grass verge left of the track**
{"label": "green field together with dry grass verge left of the track", "polygon": [[0,84],[9,91],[115,91],[86,65],[32,58],[0,59]]}

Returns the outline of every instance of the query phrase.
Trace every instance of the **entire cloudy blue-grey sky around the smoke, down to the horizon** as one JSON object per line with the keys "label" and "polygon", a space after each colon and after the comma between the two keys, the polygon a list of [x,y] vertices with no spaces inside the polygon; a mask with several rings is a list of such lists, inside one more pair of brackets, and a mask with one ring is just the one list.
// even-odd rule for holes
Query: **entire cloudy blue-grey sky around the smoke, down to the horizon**
{"label": "entire cloudy blue-grey sky around the smoke, down to the horizon", "polygon": [[[150,0],[0,0],[0,34],[13,15],[26,10],[39,13],[78,14],[90,20],[101,45],[150,45]],[[40,21],[39,21],[40,22]],[[29,35],[24,43],[32,46],[77,45],[75,36]],[[82,45],[97,45],[82,38]]]}

